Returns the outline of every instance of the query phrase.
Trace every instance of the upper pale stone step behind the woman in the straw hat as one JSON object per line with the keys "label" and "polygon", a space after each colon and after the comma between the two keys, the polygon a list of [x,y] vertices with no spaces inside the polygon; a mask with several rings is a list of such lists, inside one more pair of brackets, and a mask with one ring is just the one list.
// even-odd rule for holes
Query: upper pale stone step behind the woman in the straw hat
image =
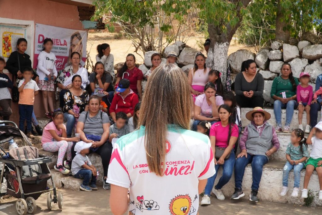
{"label": "upper pale stone step behind the woman in the straw hat", "polygon": [[[242,117],[242,127],[247,126],[250,121],[246,119],[246,113],[251,111],[252,108],[242,108],[241,117]],[[270,120],[268,121],[270,124],[272,124],[274,127],[276,127],[276,120],[275,120],[275,114],[273,108],[264,108],[265,111],[269,112],[271,115]],[[321,114],[320,111],[317,114],[317,122],[320,121]],[[286,121],[286,110],[282,109],[282,126],[285,125]],[[303,113],[303,120],[302,120],[303,127],[307,124],[306,123],[306,112]],[[290,124],[291,130],[298,128],[298,111],[294,110],[293,118]],[[304,127],[305,128],[305,127]]]}

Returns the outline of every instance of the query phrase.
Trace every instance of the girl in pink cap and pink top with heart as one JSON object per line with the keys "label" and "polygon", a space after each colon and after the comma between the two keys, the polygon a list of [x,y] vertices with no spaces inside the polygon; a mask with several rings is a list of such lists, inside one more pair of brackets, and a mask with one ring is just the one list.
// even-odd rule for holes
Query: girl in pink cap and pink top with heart
{"label": "girl in pink cap and pink top with heart", "polygon": [[[309,133],[311,130],[310,127],[310,109],[311,102],[313,97],[313,87],[308,85],[310,81],[309,73],[300,74],[300,82],[296,90],[296,98],[298,101],[298,128],[303,130],[302,118],[303,112],[306,111],[306,120],[307,125],[305,127],[305,133]],[[304,130],[303,130],[304,131]]]}

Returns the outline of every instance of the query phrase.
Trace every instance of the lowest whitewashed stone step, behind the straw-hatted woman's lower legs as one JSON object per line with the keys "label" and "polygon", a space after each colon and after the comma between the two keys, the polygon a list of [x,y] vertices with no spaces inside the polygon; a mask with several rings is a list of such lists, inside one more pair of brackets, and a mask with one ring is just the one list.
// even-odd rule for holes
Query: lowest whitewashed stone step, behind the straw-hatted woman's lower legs
{"label": "lowest whitewashed stone step, behind the straw-hatted woman's lower legs", "polygon": [[[293,191],[294,184],[294,175],[293,171],[289,174],[289,191],[286,196],[281,197],[279,195],[282,189],[282,177],[283,177],[283,167],[285,165],[285,161],[269,161],[263,167],[263,173],[260,181],[260,188],[258,192],[258,198],[260,201],[267,202],[278,202],[278,203],[291,203],[291,204],[304,204],[304,199],[301,198],[301,191],[298,194],[298,197],[291,197],[291,193]],[[216,177],[215,184],[217,184],[218,180],[222,176],[222,168],[219,169],[218,175]],[[305,169],[301,171],[301,181],[300,181],[300,190],[303,189],[303,181],[304,181]],[[223,194],[226,198],[230,198],[234,192],[235,187],[235,176],[234,173],[232,175],[231,180],[222,188]],[[252,183],[252,171],[251,165],[249,164],[245,168],[244,178],[242,182],[242,189],[245,193],[244,199],[249,199],[249,195],[251,193],[251,183]],[[314,172],[311,176],[311,180],[308,185],[308,190],[312,191],[312,195],[314,196],[314,200],[312,206],[321,206],[322,201],[318,200],[318,192],[319,192],[319,182],[317,173]]]}

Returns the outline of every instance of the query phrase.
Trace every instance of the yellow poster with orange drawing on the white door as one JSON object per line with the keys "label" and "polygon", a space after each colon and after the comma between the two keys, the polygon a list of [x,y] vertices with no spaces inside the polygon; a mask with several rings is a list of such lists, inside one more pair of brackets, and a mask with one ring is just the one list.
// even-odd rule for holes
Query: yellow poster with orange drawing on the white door
{"label": "yellow poster with orange drawing on the white door", "polygon": [[17,40],[24,37],[24,34],[5,31],[2,34],[2,56],[9,57],[10,54],[17,50],[17,47],[11,44],[17,44]]}

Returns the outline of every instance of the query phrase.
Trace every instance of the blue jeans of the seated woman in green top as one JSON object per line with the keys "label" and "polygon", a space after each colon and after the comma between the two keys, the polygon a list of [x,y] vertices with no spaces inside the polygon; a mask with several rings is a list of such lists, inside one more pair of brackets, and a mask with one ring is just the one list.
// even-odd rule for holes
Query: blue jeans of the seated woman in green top
{"label": "blue jeans of the seated woman in green top", "polygon": [[289,126],[292,121],[294,109],[297,107],[297,102],[291,100],[288,103],[284,104],[279,100],[274,102],[274,115],[276,119],[276,126],[282,127],[282,109],[286,109],[286,122],[285,126]]}

